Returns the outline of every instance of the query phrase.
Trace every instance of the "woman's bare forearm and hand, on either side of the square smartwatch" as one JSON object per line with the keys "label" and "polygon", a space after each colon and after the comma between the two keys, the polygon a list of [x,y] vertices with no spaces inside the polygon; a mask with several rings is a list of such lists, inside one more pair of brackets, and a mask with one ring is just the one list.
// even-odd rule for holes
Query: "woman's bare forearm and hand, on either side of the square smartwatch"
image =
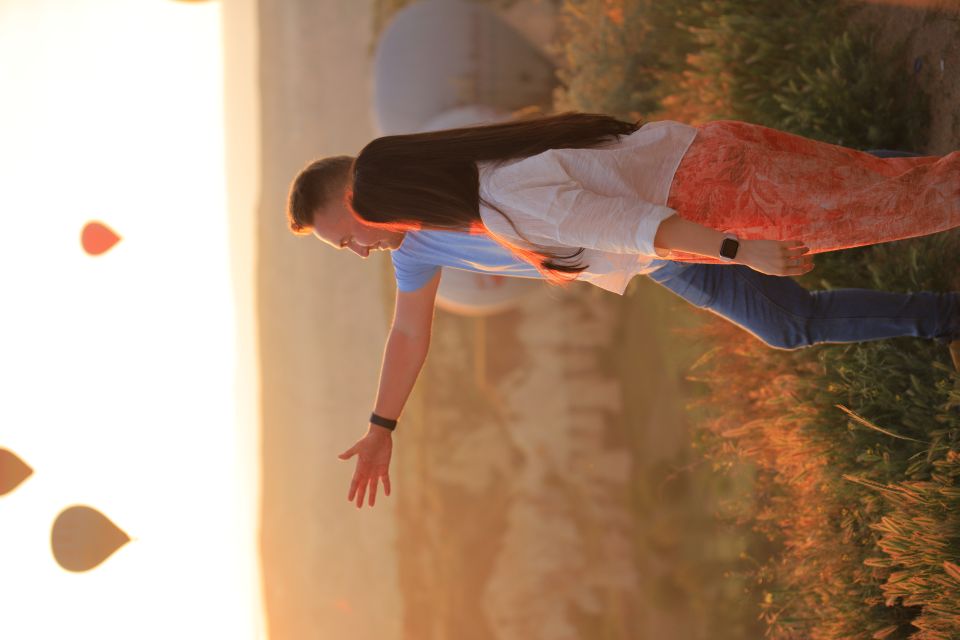
{"label": "woman's bare forearm and hand, on either side of the square smartwatch", "polygon": [[[716,229],[672,215],[657,228],[653,247],[659,257],[666,259],[671,250],[717,258],[723,235]],[[813,269],[813,259],[807,251],[800,240],[740,240],[733,262],[773,276],[798,276]]]}

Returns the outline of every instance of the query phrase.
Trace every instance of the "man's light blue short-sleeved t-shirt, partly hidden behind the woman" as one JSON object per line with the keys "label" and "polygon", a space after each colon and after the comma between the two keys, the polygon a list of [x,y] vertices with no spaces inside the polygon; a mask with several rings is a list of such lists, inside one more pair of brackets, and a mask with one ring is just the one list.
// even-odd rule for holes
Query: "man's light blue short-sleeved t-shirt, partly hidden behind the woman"
{"label": "man's light blue short-sleeved t-shirt, partly hidden behind the woman", "polygon": [[542,278],[536,268],[488,236],[463,231],[407,231],[399,249],[390,252],[400,291],[416,291],[440,267],[495,273],[521,278]]}

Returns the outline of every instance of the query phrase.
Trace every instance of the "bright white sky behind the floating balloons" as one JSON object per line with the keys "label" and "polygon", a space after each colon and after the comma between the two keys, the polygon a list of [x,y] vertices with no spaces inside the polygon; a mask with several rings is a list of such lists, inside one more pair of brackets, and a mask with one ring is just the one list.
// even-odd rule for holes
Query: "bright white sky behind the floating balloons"
{"label": "bright white sky behind the floating balloons", "polygon": [[[0,0],[0,637],[257,637],[218,3]],[[87,255],[103,222],[121,241]],[[132,542],[71,573],[56,516]]]}

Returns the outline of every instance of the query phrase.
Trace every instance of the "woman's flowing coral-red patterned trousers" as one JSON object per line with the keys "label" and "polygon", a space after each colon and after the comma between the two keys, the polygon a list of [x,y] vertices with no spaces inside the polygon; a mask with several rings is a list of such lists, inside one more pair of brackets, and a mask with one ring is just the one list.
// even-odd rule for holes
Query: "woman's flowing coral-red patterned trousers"
{"label": "woman's flowing coral-red patterned trousers", "polygon": [[[802,240],[811,253],[960,226],[960,151],[878,158],[760,125],[698,127],[667,206],[742,239]],[[670,260],[721,262],[672,252]]]}

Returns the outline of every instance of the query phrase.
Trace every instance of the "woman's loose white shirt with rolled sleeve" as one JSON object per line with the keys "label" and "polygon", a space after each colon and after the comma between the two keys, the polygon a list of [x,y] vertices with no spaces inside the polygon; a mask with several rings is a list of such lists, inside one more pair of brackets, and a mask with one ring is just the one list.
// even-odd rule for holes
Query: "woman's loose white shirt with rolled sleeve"
{"label": "woman's loose white shirt with rolled sleeve", "polygon": [[653,239],[667,207],[670,184],[696,137],[690,125],[662,120],[616,142],[590,149],[550,149],[502,164],[479,163],[480,217],[494,235],[520,246],[560,254],[583,247],[588,264],[578,279],[623,295],[634,275],[657,259]]}

